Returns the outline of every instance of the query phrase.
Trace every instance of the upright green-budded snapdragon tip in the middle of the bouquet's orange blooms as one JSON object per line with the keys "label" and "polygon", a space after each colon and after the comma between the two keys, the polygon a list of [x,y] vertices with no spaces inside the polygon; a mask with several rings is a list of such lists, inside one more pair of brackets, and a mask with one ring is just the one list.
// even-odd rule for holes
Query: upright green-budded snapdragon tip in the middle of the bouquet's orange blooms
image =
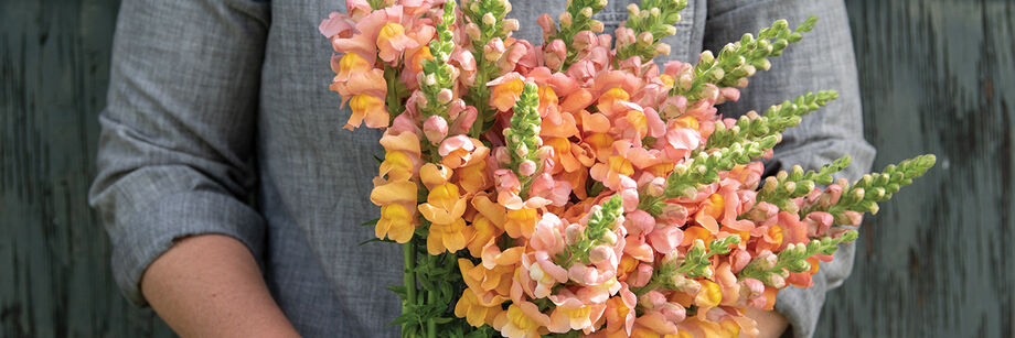
{"label": "upright green-budded snapdragon tip in the middle of the bouquet's orange blooms", "polygon": [[[522,198],[527,197],[532,177],[541,173],[543,167],[543,161],[541,161],[537,152],[539,146],[543,146],[543,139],[539,138],[543,120],[539,118],[539,96],[536,92],[537,90],[538,87],[535,84],[525,84],[525,87],[522,88],[522,95],[514,102],[511,126],[504,128],[504,143],[507,146],[507,153],[511,155],[511,162],[506,163],[506,167],[517,175],[522,185],[520,193]],[[535,165],[535,171],[530,170],[533,164]],[[523,166],[528,166],[530,168],[523,170]]]}

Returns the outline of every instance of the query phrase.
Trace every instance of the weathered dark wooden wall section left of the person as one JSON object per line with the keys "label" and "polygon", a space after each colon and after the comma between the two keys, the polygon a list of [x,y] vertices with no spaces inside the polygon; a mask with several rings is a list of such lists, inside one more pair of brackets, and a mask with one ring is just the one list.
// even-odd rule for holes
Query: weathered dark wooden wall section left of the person
{"label": "weathered dark wooden wall section left of the person", "polygon": [[0,335],[165,337],[87,204],[118,1],[0,1]]}

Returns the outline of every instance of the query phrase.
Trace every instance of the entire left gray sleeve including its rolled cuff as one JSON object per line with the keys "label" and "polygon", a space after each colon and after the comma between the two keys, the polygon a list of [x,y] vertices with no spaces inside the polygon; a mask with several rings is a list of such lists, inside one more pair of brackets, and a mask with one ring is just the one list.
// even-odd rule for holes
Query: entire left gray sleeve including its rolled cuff
{"label": "entire left gray sleeve including its rolled cuff", "polygon": [[260,257],[264,219],[247,200],[268,24],[267,4],[245,0],[120,7],[89,201],[136,305],[147,304],[145,270],[175,239],[226,235]]}

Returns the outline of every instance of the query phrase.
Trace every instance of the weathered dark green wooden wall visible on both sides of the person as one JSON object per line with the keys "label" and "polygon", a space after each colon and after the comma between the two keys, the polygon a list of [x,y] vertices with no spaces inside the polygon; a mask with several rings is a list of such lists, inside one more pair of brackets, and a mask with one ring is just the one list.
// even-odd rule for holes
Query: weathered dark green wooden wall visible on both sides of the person
{"label": "weathered dark green wooden wall visible on both sides of the person", "polygon": [[[1015,337],[1015,1],[848,0],[876,166],[938,166],[868,221],[819,337]],[[86,204],[118,1],[0,1],[0,335],[165,337]]]}

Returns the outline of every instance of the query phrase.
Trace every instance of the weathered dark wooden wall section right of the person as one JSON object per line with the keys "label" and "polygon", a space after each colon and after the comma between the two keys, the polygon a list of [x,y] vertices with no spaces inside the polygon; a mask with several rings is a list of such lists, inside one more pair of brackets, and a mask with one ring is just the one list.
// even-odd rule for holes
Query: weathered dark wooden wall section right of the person
{"label": "weathered dark wooden wall section right of the person", "polygon": [[1015,337],[1015,2],[847,1],[875,163],[938,165],[861,231],[818,337]]}

